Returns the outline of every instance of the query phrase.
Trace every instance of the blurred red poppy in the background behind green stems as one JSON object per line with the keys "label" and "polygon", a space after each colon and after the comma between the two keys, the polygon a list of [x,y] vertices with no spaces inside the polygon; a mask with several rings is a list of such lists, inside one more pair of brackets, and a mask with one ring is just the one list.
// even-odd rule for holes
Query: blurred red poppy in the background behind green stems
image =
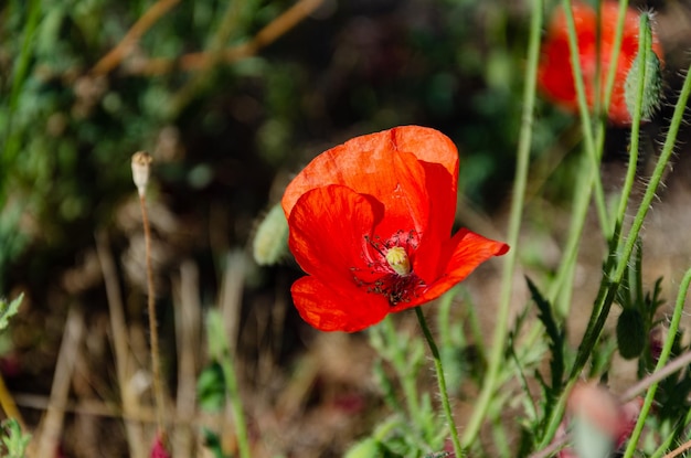
{"label": "blurred red poppy in the background behind green stems", "polygon": [[[607,72],[612,65],[609,58],[612,56],[616,34],[618,9],[619,6],[617,2],[605,1],[602,3],[599,31],[600,87],[605,86]],[[586,100],[588,106],[593,108],[598,63],[598,46],[596,43],[598,32],[597,14],[589,4],[580,1],[572,2],[572,11],[578,41],[578,54]],[[631,124],[631,115],[626,105],[625,87],[626,77],[638,54],[638,35],[639,14],[634,10],[628,10],[624,23],[621,50],[619,52],[619,60],[617,61],[617,73],[612,100],[607,114],[610,123],[614,125],[627,126]],[[655,31],[652,34],[652,50],[661,62],[662,47],[657,40]],[[572,111],[578,110],[573,71],[571,67],[566,15],[561,8],[559,8],[554,14],[548,30],[546,39],[542,45],[542,57],[538,70],[538,83],[542,92],[554,103]]]}

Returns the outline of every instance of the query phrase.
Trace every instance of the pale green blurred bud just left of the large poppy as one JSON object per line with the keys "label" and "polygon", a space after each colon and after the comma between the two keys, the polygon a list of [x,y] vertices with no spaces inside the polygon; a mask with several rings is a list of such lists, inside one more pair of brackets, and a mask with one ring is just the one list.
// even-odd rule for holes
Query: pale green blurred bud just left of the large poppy
{"label": "pale green blurred bud just left of the large poppy", "polygon": [[274,205],[257,226],[252,253],[261,266],[276,264],[288,253],[288,222],[280,204]]}

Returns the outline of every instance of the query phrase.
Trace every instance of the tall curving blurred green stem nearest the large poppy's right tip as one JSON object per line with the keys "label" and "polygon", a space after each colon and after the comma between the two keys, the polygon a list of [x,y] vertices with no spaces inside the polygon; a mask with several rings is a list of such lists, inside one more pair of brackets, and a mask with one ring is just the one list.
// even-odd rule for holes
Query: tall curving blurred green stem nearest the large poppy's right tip
{"label": "tall curving blurred green stem nearest the large poppy's right tip", "polygon": [[542,0],[533,0],[530,23],[530,39],[528,45],[528,66],[525,85],[523,87],[523,113],[521,116],[521,132],[518,147],[518,160],[515,167],[515,178],[513,181],[513,199],[511,202],[511,213],[509,216],[508,243],[512,249],[506,256],[502,277],[501,296],[497,310],[497,321],[495,323],[495,335],[489,358],[487,373],[482,391],[474,407],[472,415],[468,422],[463,436],[463,445],[469,448],[477,437],[485,415],[489,409],[489,404],[496,390],[499,369],[504,356],[504,345],[507,342],[507,326],[509,320],[509,307],[513,290],[513,273],[518,258],[518,238],[521,228],[521,216],[525,202],[525,188],[528,182],[528,166],[530,163],[530,147],[532,142],[533,116],[535,106],[535,86],[538,81],[538,62],[540,57],[540,39],[542,32]]}

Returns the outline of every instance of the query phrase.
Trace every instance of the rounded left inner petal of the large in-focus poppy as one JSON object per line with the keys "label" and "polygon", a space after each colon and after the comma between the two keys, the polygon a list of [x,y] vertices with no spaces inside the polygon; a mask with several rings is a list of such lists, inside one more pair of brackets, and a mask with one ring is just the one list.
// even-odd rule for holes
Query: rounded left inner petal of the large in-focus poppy
{"label": "rounded left inner petal of the large in-focus poppy", "polygon": [[381,219],[381,204],[341,187],[308,191],[288,220],[288,246],[302,269],[334,288],[354,285],[353,268],[366,268],[366,236]]}

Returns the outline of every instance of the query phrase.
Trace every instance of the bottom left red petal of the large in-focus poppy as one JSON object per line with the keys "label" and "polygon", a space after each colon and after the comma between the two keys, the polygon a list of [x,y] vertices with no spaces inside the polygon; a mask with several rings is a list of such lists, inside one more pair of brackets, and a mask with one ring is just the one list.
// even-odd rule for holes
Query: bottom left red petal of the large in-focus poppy
{"label": "bottom left red petal of the large in-focus poppy", "polygon": [[380,322],[389,301],[358,288],[339,292],[315,277],[302,277],[290,288],[300,317],[321,331],[355,332]]}

